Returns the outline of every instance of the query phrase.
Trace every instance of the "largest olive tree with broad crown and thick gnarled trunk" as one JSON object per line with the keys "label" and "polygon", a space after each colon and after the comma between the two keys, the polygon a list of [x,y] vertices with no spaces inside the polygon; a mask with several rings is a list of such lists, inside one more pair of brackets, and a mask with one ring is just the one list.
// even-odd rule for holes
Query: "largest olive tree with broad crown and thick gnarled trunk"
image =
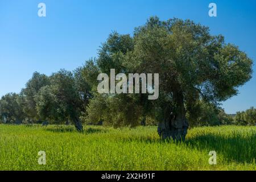
{"label": "largest olive tree with broad crown and thick gnarled trunk", "polygon": [[148,101],[144,94],[111,94],[103,97],[105,103],[112,103],[105,108],[116,118],[122,113],[122,118],[128,118],[126,124],[134,122],[130,115],[153,115],[159,122],[160,137],[177,140],[187,134],[186,113],[190,117],[200,114],[199,100],[217,106],[235,96],[237,88],[250,80],[253,63],[237,46],[226,44],[222,35],[210,35],[208,27],[191,20],[161,21],[157,17],[135,28],[133,36],[112,33],[96,62],[104,73],[111,68],[117,73],[159,73],[158,100]]}

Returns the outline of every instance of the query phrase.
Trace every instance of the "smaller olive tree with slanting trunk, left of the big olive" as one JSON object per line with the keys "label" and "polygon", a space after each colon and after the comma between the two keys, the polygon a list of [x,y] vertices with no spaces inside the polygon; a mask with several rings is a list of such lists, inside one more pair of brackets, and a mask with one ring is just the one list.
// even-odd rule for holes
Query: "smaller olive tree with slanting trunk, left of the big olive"
{"label": "smaller olive tree with slanting trunk, left of the big olive", "polygon": [[80,115],[86,102],[86,92],[80,92],[73,73],[64,69],[53,73],[49,82],[50,84],[43,86],[35,96],[39,116],[53,122],[70,120],[77,131],[82,131]]}

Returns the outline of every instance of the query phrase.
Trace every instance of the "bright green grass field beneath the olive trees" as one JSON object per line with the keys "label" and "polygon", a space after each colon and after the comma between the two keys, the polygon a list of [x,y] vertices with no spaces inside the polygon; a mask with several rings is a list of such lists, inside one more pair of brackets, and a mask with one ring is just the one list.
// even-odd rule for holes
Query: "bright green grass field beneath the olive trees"
{"label": "bright green grass field beneath the olive trees", "polygon": [[255,158],[256,127],[197,127],[175,143],[159,140],[152,126],[85,126],[81,134],[72,126],[0,125],[0,170],[255,170]]}

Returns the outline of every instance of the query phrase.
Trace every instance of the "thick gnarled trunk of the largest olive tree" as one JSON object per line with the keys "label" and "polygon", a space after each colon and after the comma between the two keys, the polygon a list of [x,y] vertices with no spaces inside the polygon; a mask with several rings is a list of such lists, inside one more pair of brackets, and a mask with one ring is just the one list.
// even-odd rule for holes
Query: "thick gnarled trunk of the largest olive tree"
{"label": "thick gnarled trunk of the largest olive tree", "polygon": [[174,93],[175,109],[164,112],[164,121],[158,125],[158,134],[162,139],[185,140],[188,121],[185,117],[183,93]]}

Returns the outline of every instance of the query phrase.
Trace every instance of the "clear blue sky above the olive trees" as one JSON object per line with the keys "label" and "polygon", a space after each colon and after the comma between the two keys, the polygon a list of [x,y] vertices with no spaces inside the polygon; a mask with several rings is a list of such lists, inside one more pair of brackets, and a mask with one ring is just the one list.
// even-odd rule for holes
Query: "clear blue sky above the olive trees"
{"label": "clear blue sky above the olive trees", "polygon": [[[38,4],[46,3],[46,18]],[[210,2],[217,18],[208,16]],[[19,92],[32,73],[50,75],[75,69],[90,57],[109,33],[132,34],[152,15],[160,19],[192,19],[222,34],[256,60],[256,1],[207,0],[0,0],[0,96]],[[254,65],[254,71],[255,71]],[[256,106],[256,75],[240,94],[224,102],[227,113]]]}

